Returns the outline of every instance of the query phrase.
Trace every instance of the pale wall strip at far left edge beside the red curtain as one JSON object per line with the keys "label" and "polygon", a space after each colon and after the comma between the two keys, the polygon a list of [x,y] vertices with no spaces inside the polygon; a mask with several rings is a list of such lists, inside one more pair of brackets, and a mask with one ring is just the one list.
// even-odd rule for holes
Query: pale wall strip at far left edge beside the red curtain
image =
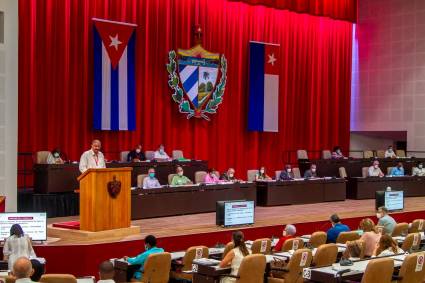
{"label": "pale wall strip at far left edge beside the red curtain", "polygon": [[17,208],[18,1],[0,0],[4,43],[0,43],[0,195],[6,210]]}

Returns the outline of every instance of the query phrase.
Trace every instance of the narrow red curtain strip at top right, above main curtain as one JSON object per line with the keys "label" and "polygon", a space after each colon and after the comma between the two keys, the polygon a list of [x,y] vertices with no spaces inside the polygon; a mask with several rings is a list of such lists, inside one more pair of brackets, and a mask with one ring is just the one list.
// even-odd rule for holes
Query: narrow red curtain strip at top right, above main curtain
{"label": "narrow red curtain strip at top right, above main curtain", "polygon": [[232,0],[332,19],[357,21],[357,0]]}

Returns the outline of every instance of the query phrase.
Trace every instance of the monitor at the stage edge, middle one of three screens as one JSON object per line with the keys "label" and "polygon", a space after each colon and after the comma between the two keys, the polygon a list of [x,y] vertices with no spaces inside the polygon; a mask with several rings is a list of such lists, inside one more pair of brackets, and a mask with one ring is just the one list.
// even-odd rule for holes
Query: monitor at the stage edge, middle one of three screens
{"label": "monitor at the stage edge, middle one of three screens", "polygon": [[254,224],[254,201],[217,202],[216,224],[225,227]]}

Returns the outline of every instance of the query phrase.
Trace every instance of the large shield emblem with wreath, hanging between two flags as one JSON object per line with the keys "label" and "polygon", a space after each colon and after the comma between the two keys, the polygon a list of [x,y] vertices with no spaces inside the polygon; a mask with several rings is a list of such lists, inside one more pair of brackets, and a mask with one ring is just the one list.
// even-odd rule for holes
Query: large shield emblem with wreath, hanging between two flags
{"label": "large shield emblem with wreath, hanging between two flags", "polygon": [[[168,85],[181,113],[210,120],[207,114],[217,112],[223,102],[227,80],[227,60],[224,55],[211,53],[200,44],[187,50],[168,53]],[[220,79],[219,79],[219,75]],[[217,84],[218,82],[218,84]]]}

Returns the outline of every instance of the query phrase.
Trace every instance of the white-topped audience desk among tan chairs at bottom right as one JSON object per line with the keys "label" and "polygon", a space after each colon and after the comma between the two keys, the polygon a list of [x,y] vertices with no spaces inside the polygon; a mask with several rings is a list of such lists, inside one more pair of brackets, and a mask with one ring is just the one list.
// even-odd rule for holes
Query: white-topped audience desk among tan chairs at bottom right
{"label": "white-topped audience desk among tan chairs at bottom right", "polygon": [[[394,270],[400,269],[403,264],[405,254],[389,256],[394,260]],[[372,258],[373,259],[373,258]],[[304,268],[303,278],[304,282],[326,282],[326,283],[338,283],[345,281],[356,281],[362,280],[363,274],[366,270],[368,263],[372,259],[353,261],[351,266],[341,266],[339,263],[335,263],[331,266],[325,267],[310,267]]]}

